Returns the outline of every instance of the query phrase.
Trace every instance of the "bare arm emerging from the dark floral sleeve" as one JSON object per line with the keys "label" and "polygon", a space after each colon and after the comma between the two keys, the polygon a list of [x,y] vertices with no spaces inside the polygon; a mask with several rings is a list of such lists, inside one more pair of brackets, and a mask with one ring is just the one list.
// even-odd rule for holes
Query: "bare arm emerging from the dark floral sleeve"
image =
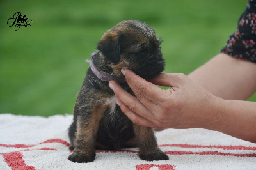
{"label": "bare arm emerging from the dark floral sleeve", "polygon": [[217,97],[247,100],[256,91],[256,64],[220,53],[188,75]]}

